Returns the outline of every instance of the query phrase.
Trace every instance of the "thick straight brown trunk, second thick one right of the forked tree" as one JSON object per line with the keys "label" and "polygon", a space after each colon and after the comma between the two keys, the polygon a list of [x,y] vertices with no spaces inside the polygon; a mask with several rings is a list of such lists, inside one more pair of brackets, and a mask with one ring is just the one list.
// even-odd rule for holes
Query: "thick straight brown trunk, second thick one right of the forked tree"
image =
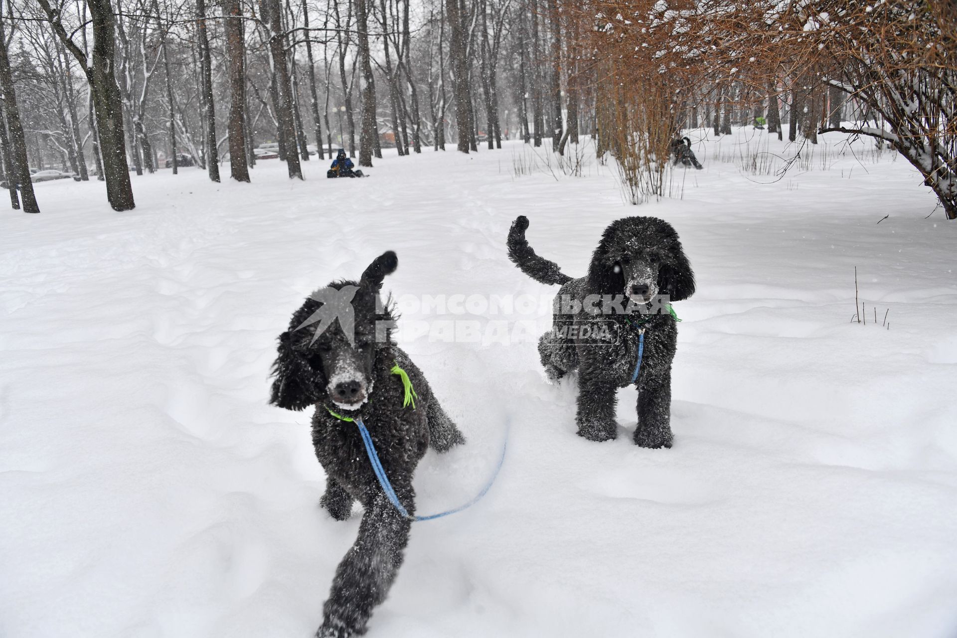
{"label": "thick straight brown trunk, second thick one right of the forked tree", "polygon": [[227,16],[226,60],[230,74],[230,177],[236,182],[249,182],[249,165],[246,162],[246,69],[245,40],[243,38],[242,6],[238,0],[223,0],[223,13]]}

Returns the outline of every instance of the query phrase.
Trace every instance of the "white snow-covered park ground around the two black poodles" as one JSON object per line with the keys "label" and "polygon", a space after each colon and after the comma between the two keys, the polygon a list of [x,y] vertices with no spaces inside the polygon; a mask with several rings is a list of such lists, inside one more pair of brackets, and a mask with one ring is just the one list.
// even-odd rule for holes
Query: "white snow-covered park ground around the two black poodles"
{"label": "white snow-covered park ground around the two black poodles", "polygon": [[[311,635],[359,516],[318,507],[308,412],[266,403],[275,338],[388,249],[397,297],[553,294],[505,257],[518,214],[576,276],[612,219],[678,229],[698,293],[676,304],[675,447],[632,445],[633,389],[616,441],[575,436],[574,389],[516,328],[546,304],[405,307],[469,437],[420,465],[420,512],[475,494],[511,431],[478,505],[413,526],[369,636],[955,635],[957,224],[870,143],[824,136],[774,181],[754,135],[699,132],[704,170],[641,207],[611,167],[553,176],[520,143],[387,151],[367,180],[161,171],[123,213],[101,184],[39,185],[42,214],[0,214],[0,636]],[[447,341],[450,321],[478,324]]]}

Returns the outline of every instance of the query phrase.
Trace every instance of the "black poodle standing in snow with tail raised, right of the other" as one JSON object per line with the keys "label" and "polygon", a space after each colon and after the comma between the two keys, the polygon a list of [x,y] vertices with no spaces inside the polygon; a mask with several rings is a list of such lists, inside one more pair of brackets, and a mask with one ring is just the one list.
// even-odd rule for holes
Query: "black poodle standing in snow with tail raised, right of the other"
{"label": "black poodle standing in snow with tail raised, right of the other", "polygon": [[[634,443],[644,448],[670,448],[671,363],[675,357],[678,326],[665,311],[629,316],[588,312],[589,296],[609,296],[633,301],[639,312],[652,308],[656,295],[680,301],[695,292],[695,276],[685,256],[678,232],[655,217],[626,217],[612,222],[591,257],[588,275],[572,279],[554,262],[540,257],[528,245],[528,219],[519,216],[508,233],[508,256],[536,281],[562,284],[555,302],[554,325],[573,324],[590,334],[607,332],[604,341],[569,339],[555,331],[539,341],[539,354],[549,378],[560,380],[579,371],[578,434],[592,441],[617,436],[616,390],[631,385],[638,352],[638,329],[645,330],[644,355],[637,381],[638,427]],[[594,297],[591,297],[594,298]],[[577,305],[573,305],[577,302]],[[566,304],[562,308],[562,304]],[[571,314],[568,311],[570,308]],[[578,334],[582,334],[579,332]]]}

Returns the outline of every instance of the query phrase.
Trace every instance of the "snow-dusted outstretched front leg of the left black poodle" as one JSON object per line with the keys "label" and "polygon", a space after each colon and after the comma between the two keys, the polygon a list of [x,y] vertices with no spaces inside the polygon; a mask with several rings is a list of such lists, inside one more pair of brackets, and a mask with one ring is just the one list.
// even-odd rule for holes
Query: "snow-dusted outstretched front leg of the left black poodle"
{"label": "snow-dusted outstretched front leg of the left black poodle", "polygon": [[[412,515],[412,486],[393,483],[392,487]],[[348,638],[366,632],[372,609],[386,600],[402,564],[411,526],[412,521],[403,518],[381,491],[372,497],[359,536],[336,568],[317,638]]]}

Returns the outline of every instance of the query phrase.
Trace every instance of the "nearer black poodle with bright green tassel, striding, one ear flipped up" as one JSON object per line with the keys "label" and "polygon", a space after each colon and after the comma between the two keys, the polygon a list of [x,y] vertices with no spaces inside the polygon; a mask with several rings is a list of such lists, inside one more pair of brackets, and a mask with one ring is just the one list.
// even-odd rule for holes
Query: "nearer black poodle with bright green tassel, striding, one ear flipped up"
{"label": "nearer black poodle with bright green tassel, striding, one ear flipped up", "polygon": [[[402,564],[411,526],[383,493],[356,425],[336,418],[329,409],[363,419],[392,487],[410,515],[415,512],[412,473],[426,448],[447,451],[465,442],[422,372],[390,339],[393,316],[379,292],[383,278],[397,264],[395,253],[384,253],[359,281],[329,284],[339,291],[347,286],[356,289],[351,301],[354,344],[338,321],[315,340],[318,324],[300,328],[323,306],[312,297],[296,311],[289,330],[278,340],[270,403],[294,410],[316,407],[312,441],[326,473],[320,503],[337,520],[350,516],[354,500],[366,510],[359,536],[339,563],[323,605],[323,625],[316,633],[321,638],[365,633],[372,609],[385,600]],[[414,407],[403,407],[402,380],[390,372],[394,364],[409,374],[418,395]]]}

